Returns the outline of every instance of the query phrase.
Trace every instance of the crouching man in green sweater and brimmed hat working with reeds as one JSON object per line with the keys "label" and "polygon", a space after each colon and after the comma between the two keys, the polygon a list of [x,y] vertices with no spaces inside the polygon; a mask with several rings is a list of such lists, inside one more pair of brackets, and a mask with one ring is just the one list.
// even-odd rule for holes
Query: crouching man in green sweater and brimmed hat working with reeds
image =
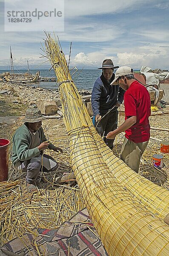
{"label": "crouching man in green sweater and brimmed hat working with reeds", "polygon": [[44,172],[52,172],[58,167],[54,158],[42,154],[43,150],[49,148],[62,153],[62,149],[55,147],[46,139],[41,127],[42,120],[45,118],[38,108],[28,109],[24,124],[17,128],[13,136],[12,164],[18,171],[27,172],[26,183],[29,192],[34,192],[37,189],[35,181],[42,161]]}

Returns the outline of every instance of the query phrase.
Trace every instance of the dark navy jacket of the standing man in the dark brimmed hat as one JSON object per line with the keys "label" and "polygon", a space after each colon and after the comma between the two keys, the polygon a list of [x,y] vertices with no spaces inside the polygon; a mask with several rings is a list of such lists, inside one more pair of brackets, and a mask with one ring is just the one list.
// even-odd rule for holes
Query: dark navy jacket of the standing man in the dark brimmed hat
{"label": "dark navy jacket of the standing man in the dark brimmed hat", "polygon": [[[100,76],[101,77],[101,76]],[[117,102],[123,102],[125,91],[119,85],[103,84],[101,78],[97,78],[92,90],[92,110],[94,116],[107,113]],[[113,73],[113,78],[115,74]],[[111,79],[112,81],[112,79]],[[112,111],[117,109],[114,108]]]}

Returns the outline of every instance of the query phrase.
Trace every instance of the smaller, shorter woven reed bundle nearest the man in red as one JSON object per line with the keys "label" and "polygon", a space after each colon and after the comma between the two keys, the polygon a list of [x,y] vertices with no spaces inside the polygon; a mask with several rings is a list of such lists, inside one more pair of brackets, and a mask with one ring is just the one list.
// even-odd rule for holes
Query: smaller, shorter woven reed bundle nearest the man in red
{"label": "smaller, shorter woven reed bundle nearest the man in red", "polygon": [[169,213],[169,190],[137,174],[126,163],[112,154],[112,151],[105,147],[105,143],[95,128],[92,128],[92,134],[106,165],[120,184],[128,189],[153,214],[163,219]]}

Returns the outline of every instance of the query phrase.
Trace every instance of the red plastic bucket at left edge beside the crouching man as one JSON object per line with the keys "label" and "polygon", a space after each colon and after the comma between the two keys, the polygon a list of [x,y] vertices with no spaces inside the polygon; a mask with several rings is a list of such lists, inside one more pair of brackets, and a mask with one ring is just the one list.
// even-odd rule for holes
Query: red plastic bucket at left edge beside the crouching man
{"label": "red plastic bucket at left edge beside the crouching man", "polygon": [[9,140],[0,138],[0,182],[8,180],[9,143]]}

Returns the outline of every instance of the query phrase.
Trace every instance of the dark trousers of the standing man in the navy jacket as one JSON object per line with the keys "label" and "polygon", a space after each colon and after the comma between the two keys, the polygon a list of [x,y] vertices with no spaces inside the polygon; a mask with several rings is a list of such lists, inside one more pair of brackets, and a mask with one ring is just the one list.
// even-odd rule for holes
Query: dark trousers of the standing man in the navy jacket
{"label": "dark trousers of the standing man in the navy jacket", "polygon": [[[100,113],[100,116],[104,116],[106,113]],[[114,131],[117,129],[117,121],[118,121],[118,111],[115,110],[113,112],[109,112],[103,119],[100,120],[100,122],[97,125],[97,122],[95,121],[95,127],[97,132],[100,134],[101,137],[106,136],[109,131]],[[104,135],[103,135],[104,134]],[[114,140],[103,138],[106,145],[108,145],[109,148],[113,148],[113,142]]]}

